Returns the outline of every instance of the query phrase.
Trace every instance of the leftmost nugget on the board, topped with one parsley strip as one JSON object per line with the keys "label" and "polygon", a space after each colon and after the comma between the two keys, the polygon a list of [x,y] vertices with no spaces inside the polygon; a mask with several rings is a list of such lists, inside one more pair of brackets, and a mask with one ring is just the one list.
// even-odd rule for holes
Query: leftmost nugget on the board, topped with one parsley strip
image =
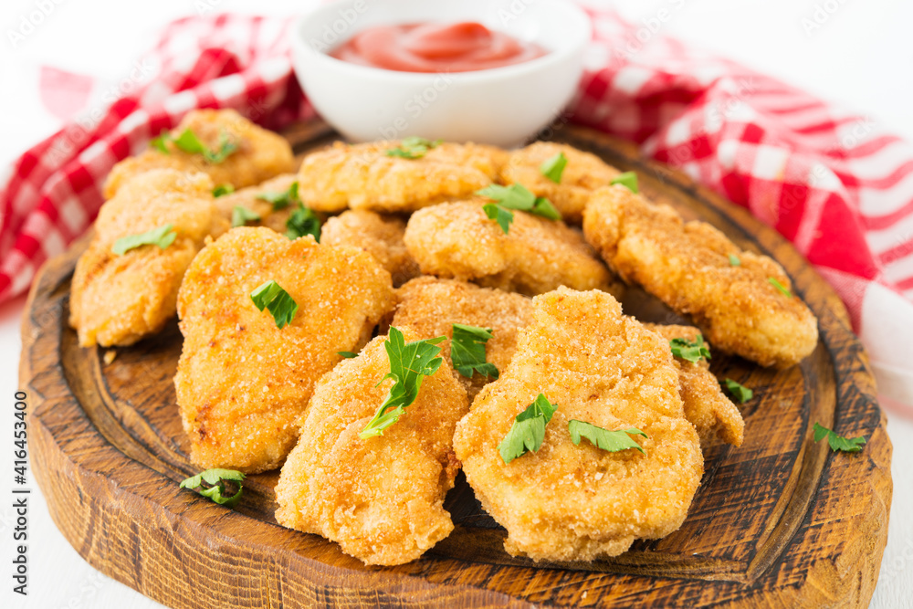
{"label": "leftmost nugget on the board, topped with one parsley strip", "polygon": [[[157,169],[136,176],[101,206],[95,236],[79,257],[69,299],[69,324],[79,344],[130,345],[163,329],[175,312],[184,271],[205,236],[223,232],[205,173]],[[119,256],[121,237],[171,225],[164,249],[145,245]]]}

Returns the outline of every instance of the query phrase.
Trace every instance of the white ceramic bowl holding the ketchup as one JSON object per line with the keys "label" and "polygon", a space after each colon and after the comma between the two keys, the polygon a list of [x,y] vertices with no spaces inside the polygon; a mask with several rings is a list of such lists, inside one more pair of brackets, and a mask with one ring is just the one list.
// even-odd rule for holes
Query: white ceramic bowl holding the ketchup
{"label": "white ceramic bowl holding the ketchup", "polygon": [[[549,53],[504,68],[421,74],[369,68],[327,51],[362,29],[417,22],[478,21]],[[561,0],[341,0],[292,28],[295,73],[320,115],[355,142],[418,135],[515,146],[572,99],[590,21]]]}

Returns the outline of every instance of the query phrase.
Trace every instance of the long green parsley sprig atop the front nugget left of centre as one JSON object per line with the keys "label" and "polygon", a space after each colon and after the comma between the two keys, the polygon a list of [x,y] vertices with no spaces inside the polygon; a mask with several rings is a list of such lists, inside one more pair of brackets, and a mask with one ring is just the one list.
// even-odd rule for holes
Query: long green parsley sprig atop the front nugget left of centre
{"label": "long green parsley sprig atop the front nugget left of centre", "polygon": [[393,379],[394,384],[383,398],[383,403],[377,409],[374,418],[358,435],[362,440],[383,435],[383,430],[396,423],[406,407],[415,402],[422,380],[425,376],[436,373],[444,362],[438,357],[441,348],[437,344],[442,341],[446,341],[446,336],[405,342],[403,332],[396,328],[390,329],[387,341],[383,343],[387,359],[390,361],[390,372],[384,374],[381,383]]}

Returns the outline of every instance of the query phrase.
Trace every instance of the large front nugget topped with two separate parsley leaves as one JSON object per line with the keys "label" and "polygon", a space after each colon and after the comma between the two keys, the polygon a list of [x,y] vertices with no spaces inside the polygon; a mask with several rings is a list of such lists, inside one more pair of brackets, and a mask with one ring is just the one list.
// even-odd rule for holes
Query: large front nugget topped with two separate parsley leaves
{"label": "large front nugget topped with two separate parsley leaves", "polygon": [[[533,299],[508,369],[456,425],[454,449],[488,514],[508,530],[504,548],[533,560],[590,561],[635,539],[677,530],[703,475],[694,426],[678,395],[669,346],[600,291],[561,288]],[[505,464],[498,445],[544,394],[557,410],[538,452]],[[569,421],[636,427],[645,454],[575,446]]]}

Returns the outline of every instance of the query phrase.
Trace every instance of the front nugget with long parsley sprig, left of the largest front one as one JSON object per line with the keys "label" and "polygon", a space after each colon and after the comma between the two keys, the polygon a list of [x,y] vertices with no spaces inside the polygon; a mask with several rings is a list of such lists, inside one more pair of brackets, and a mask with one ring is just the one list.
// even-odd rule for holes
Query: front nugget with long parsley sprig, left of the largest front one
{"label": "front nugget with long parsley sprig, left of the largest front one", "polygon": [[276,520],[337,541],[366,564],[393,565],[415,560],[453,530],[443,504],[459,469],[454,427],[468,402],[444,362],[394,425],[362,440],[393,384],[382,382],[390,372],[385,341],[375,338],[317,384],[282,467]]}

